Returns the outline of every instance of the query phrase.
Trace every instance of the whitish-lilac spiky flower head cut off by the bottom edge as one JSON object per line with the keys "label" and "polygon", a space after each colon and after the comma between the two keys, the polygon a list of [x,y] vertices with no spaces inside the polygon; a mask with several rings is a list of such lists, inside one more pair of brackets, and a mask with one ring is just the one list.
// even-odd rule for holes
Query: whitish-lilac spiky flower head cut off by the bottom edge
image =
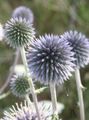
{"label": "whitish-lilac spiky flower head cut off by the bottom edge", "polygon": [[[41,120],[51,120],[50,106],[46,106],[44,103],[39,104],[39,111]],[[38,120],[38,117],[34,104],[28,106],[25,101],[24,104],[16,103],[16,106],[12,106],[9,111],[4,111],[3,120]]]}

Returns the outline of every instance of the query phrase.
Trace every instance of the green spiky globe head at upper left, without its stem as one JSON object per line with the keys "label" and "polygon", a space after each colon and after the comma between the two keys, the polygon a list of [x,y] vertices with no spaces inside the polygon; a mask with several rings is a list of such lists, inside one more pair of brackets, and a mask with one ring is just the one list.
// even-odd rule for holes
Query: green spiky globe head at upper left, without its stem
{"label": "green spiky globe head at upper left, without its stem", "polygon": [[34,39],[35,32],[32,25],[25,18],[11,18],[4,27],[5,40],[13,48],[29,45]]}

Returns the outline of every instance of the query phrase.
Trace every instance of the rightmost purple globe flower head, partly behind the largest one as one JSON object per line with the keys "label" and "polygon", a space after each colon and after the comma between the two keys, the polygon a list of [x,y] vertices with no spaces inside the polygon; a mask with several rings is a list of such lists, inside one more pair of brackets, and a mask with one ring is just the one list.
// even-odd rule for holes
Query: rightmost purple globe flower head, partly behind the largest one
{"label": "rightmost purple globe flower head, partly behind the largest one", "polygon": [[84,34],[77,31],[65,32],[61,37],[67,40],[72,51],[75,53],[74,58],[77,67],[84,67],[89,63],[89,41]]}

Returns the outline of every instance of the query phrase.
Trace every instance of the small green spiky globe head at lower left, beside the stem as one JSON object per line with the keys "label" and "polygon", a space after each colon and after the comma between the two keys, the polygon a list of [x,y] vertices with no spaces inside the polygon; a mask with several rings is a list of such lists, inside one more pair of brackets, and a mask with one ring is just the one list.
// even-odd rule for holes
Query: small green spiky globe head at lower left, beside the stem
{"label": "small green spiky globe head at lower left, beside the stem", "polygon": [[10,81],[11,92],[17,97],[25,97],[29,92],[28,77],[14,74]]}

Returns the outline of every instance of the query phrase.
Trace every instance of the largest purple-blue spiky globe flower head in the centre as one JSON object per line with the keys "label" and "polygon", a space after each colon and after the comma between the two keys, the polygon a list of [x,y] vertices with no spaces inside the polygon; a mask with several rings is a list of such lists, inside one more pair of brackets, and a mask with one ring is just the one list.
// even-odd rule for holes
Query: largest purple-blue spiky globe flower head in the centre
{"label": "largest purple-blue spiky globe flower head in the centre", "polygon": [[44,35],[31,42],[26,53],[32,78],[41,83],[63,83],[73,71],[74,54],[68,42],[57,35]]}

